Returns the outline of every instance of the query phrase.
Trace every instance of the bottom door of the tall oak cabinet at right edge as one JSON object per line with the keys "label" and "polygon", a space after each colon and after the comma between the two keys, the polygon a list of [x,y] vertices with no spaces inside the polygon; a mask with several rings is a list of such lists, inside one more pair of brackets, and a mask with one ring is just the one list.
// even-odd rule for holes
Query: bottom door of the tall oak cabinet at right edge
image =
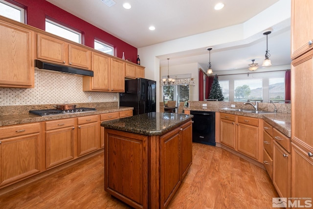
{"label": "bottom door of the tall oak cabinet at right edge", "polygon": [[313,198],[313,157],[291,143],[291,159],[291,197]]}

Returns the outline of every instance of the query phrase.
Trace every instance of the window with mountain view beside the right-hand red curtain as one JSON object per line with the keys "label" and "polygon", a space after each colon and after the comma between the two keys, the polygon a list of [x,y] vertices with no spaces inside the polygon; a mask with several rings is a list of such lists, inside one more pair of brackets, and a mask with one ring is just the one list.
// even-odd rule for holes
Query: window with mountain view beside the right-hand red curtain
{"label": "window with mountain view beside the right-hand red curtain", "polygon": [[268,99],[285,100],[285,78],[268,79]]}

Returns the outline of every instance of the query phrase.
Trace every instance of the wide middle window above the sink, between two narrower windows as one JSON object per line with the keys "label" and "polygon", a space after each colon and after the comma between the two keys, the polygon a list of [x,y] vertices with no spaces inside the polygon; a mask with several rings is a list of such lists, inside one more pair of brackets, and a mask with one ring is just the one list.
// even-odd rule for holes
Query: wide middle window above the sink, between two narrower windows
{"label": "wide middle window above the sink, between two narrower windows", "polygon": [[234,101],[262,100],[262,79],[245,79],[234,81]]}

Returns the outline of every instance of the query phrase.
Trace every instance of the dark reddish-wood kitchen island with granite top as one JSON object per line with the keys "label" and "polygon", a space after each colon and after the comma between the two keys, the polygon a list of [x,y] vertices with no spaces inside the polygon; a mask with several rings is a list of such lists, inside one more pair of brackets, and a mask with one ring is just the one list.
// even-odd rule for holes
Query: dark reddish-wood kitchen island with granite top
{"label": "dark reddish-wood kitchen island with granite top", "polygon": [[147,113],[102,122],[105,190],[134,208],[166,208],[192,163],[192,117]]}

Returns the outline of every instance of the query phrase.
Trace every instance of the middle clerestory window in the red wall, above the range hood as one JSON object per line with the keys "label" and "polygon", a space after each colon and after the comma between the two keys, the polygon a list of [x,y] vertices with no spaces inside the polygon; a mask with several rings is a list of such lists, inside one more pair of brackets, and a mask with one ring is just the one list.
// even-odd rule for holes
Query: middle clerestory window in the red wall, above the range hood
{"label": "middle clerestory window in the red wall, above the range hood", "polygon": [[59,23],[45,19],[45,31],[81,44],[82,34]]}

